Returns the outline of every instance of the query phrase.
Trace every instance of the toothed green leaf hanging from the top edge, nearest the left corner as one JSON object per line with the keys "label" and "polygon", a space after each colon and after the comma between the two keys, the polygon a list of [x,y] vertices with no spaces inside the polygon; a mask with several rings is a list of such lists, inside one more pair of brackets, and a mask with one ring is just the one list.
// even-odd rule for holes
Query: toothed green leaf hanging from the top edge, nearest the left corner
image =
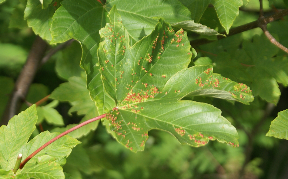
{"label": "toothed green leaf hanging from the top edge, nearest the left corner", "polygon": [[[51,0],[50,0],[51,1]],[[46,6],[47,4],[45,4]],[[55,10],[59,8],[60,2],[52,3],[47,8],[42,9],[39,0],[28,0],[26,9],[24,11],[24,19],[27,19],[28,26],[32,27],[35,34],[48,41],[52,40],[50,27],[52,23],[52,16]]]}

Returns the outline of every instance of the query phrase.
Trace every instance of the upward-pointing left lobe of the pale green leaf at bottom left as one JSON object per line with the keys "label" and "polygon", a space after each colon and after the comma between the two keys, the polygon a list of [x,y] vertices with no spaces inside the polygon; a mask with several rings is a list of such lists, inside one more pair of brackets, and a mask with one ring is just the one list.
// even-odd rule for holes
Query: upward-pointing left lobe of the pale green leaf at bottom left
{"label": "upward-pointing left lobe of the pale green leaf at bottom left", "polygon": [[14,168],[20,148],[26,144],[37,122],[35,105],[12,117],[0,127],[0,165],[4,170]]}

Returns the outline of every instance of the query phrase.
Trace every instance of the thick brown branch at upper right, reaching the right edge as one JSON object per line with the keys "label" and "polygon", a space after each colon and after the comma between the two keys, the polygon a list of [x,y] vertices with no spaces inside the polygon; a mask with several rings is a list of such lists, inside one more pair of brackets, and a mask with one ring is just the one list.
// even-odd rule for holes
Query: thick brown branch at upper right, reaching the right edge
{"label": "thick brown branch at upper right, reaching the right edge", "polygon": [[[284,9],[283,11],[280,11],[278,13],[270,15],[270,16],[264,18],[264,20],[266,21],[266,24],[268,24],[268,23],[276,21],[276,20],[278,20],[278,19],[280,19],[286,15],[288,15],[288,9]],[[248,30],[251,30],[254,28],[258,28],[258,27],[260,28],[260,24],[261,24],[260,19],[258,19],[256,21],[249,22],[247,24],[240,25],[238,27],[230,29],[229,34],[226,34],[225,32],[222,32],[220,34],[226,34],[226,37],[229,37],[231,35],[239,34],[241,32],[248,31]],[[218,36],[217,39],[220,40],[220,39],[223,39],[226,37]],[[201,38],[201,39],[196,39],[196,40],[190,41],[190,44],[192,47],[197,47],[199,45],[208,44],[210,42],[214,42],[214,41],[208,40],[206,38]]]}

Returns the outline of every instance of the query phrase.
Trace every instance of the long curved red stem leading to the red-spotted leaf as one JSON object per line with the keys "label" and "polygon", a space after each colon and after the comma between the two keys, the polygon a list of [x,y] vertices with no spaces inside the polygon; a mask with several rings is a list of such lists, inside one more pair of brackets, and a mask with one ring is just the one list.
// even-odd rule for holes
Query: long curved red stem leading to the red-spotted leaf
{"label": "long curved red stem leading to the red-spotted leaf", "polygon": [[42,149],[44,149],[45,147],[47,147],[49,144],[51,144],[52,142],[54,142],[55,140],[61,138],[62,136],[68,134],[69,132],[72,132],[86,124],[89,124],[90,122],[94,122],[96,120],[99,120],[99,119],[102,119],[106,116],[106,114],[102,114],[101,116],[97,116],[95,118],[92,118],[92,119],[89,119],[85,122],[82,122],[81,124],[79,125],[76,125],[75,127],[72,127],[71,129],[57,135],[56,137],[52,138],[50,141],[48,141],[46,144],[42,145],[40,148],[38,148],[35,152],[33,152],[31,155],[29,155],[27,158],[25,158],[24,161],[22,161],[22,163],[20,164],[20,169],[22,169],[24,167],[24,165],[32,158],[34,157],[38,152],[40,152]]}

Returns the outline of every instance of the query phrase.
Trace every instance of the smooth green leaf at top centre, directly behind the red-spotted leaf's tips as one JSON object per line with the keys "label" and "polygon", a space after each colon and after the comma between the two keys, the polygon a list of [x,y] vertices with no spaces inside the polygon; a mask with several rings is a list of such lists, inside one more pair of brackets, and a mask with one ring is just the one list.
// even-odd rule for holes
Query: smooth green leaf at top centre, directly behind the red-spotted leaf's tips
{"label": "smooth green leaf at top centre, directly behind the red-spotted leaf's tips", "polygon": [[[136,5],[137,4],[137,5]],[[150,34],[159,18],[169,23],[191,20],[191,13],[179,1],[108,0],[107,11],[116,5],[122,23],[130,35],[130,45]]]}

